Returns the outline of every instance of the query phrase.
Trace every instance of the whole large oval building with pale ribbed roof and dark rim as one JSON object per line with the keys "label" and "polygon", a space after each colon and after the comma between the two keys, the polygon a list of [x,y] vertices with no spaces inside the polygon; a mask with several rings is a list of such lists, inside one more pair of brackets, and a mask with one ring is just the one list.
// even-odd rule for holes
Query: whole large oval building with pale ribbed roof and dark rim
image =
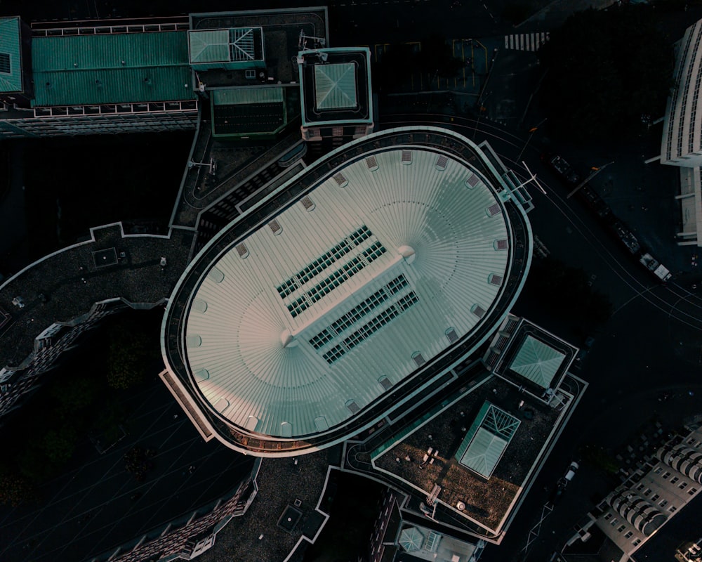
{"label": "whole large oval building with pale ribbed roof and dark rim", "polygon": [[162,329],[166,382],[203,436],[260,456],[330,446],[481,346],[531,259],[497,164],[451,131],[383,131],[208,242]]}

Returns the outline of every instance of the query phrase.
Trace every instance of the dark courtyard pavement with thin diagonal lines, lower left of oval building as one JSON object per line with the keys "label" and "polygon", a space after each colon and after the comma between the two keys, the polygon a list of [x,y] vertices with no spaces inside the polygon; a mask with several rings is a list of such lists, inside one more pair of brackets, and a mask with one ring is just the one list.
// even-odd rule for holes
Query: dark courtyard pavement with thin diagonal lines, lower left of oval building
{"label": "dark courtyard pavement with thin diagonal lines, lower left of oval building", "polygon": [[[251,471],[251,457],[204,443],[157,377],[124,407],[133,410],[124,440],[104,455],[86,440],[39,504],[0,507],[0,561],[88,560],[215,501]],[[156,450],[143,481],[124,469],[135,445]]]}

